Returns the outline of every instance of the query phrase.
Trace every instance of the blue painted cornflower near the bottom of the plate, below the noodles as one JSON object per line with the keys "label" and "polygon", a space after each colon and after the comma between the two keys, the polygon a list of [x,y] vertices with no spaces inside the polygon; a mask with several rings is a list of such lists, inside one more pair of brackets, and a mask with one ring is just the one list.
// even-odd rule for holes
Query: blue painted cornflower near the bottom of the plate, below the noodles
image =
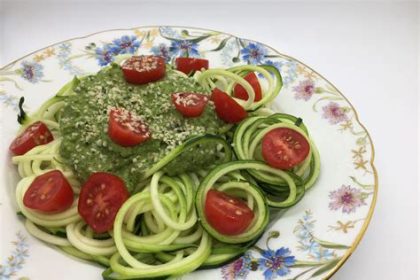
{"label": "blue painted cornflower near the bottom of the plate, below the noodles", "polygon": [[264,250],[263,258],[258,259],[258,267],[264,271],[266,280],[275,279],[277,276],[285,276],[290,273],[290,266],[296,263],[294,256],[290,255],[288,248],[281,247],[276,251]]}

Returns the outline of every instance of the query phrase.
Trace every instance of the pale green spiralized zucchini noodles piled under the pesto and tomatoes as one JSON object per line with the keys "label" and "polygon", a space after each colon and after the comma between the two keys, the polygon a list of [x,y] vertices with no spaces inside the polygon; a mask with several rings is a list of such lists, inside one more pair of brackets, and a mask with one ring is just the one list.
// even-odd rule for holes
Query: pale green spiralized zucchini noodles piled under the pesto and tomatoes
{"label": "pale green spiralized zucchini noodles piled under the pesto and tomatoes", "polygon": [[[258,102],[254,102],[253,88],[243,78],[251,71],[264,77],[263,98]],[[217,86],[230,95],[235,84],[242,85],[249,99],[237,101],[249,116],[232,126],[226,135],[188,139],[147,170],[138,188],[142,190],[123,204],[113,230],[106,234],[95,234],[86,225],[78,214],[77,198],[69,209],[58,214],[42,214],[23,205],[23,196],[34,178],[52,169],[63,172],[76,196],[82,184],[59,154],[60,109],[65,104],[63,97],[74,94],[75,80],[45,102],[21,131],[30,123],[42,121],[52,131],[54,140],[12,158],[22,177],[16,188],[16,201],[26,218],[27,230],[72,256],[105,266],[104,279],[165,277],[220,266],[257,242],[269,221],[268,207],[292,206],[316,181],[320,170],[318,150],[301,119],[268,108],[282,87],[276,68],[245,65],[209,69],[196,72],[194,78],[209,91]],[[307,159],[290,171],[268,166],[259,152],[262,137],[278,127],[296,130],[310,143]],[[203,142],[218,144],[221,164],[172,177],[160,171],[183,151]],[[222,235],[207,223],[204,203],[211,188],[244,199],[254,211],[254,221],[244,233]]]}

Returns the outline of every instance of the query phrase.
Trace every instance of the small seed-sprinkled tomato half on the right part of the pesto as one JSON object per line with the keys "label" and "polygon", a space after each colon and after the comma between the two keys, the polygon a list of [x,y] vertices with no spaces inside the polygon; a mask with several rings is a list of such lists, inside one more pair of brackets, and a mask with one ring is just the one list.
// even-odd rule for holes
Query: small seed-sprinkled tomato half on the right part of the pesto
{"label": "small seed-sprinkled tomato half on the right part of the pesto", "polygon": [[208,97],[200,93],[177,92],[172,93],[172,103],[175,108],[186,118],[201,116],[206,107]]}

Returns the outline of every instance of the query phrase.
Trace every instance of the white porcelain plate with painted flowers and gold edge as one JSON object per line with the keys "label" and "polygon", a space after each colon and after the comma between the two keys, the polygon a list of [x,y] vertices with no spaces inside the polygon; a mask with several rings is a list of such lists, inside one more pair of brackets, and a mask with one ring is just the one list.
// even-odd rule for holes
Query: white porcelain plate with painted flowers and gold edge
{"label": "white porcelain plate with painted flowers and gold edge", "polygon": [[378,190],[372,140],[355,108],[315,70],[265,44],[206,29],[151,26],[63,41],[0,69],[0,279],[101,279],[101,268],[72,259],[25,230],[16,215],[18,175],[7,148],[18,129],[21,96],[30,112],[73,76],[97,72],[118,52],[152,53],[168,61],[188,53],[209,59],[211,67],[274,65],[284,86],[273,106],[302,117],[321,154],[316,185],[297,205],[274,213],[264,235],[243,257],[177,279],[331,277],[366,231]]}

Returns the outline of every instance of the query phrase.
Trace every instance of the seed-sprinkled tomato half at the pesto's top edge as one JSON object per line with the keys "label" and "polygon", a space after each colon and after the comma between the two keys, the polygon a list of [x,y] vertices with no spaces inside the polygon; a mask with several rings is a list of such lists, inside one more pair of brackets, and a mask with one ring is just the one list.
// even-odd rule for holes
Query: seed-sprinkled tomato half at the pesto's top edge
{"label": "seed-sprinkled tomato half at the pesto's top edge", "polygon": [[165,76],[165,59],[154,55],[132,56],[122,65],[125,80],[132,84],[147,84]]}

